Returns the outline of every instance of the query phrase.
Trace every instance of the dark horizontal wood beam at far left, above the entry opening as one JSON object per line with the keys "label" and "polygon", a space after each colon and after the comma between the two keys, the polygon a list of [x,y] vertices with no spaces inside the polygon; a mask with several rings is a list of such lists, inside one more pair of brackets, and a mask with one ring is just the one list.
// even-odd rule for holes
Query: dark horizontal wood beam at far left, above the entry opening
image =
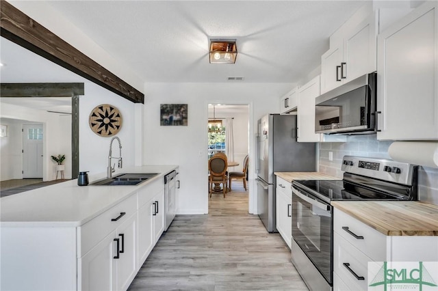
{"label": "dark horizontal wood beam at far left, above the entry opening", "polygon": [[0,97],[73,97],[84,95],[83,83],[0,83]]}

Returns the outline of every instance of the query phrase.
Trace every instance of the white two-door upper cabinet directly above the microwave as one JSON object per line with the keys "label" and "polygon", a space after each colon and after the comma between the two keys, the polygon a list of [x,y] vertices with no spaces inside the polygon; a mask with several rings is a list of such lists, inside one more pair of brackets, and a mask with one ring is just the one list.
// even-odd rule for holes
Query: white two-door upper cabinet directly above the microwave
{"label": "white two-door upper cabinet directly above the microwave", "polygon": [[358,25],[346,23],[321,57],[321,94],[376,70],[376,13]]}

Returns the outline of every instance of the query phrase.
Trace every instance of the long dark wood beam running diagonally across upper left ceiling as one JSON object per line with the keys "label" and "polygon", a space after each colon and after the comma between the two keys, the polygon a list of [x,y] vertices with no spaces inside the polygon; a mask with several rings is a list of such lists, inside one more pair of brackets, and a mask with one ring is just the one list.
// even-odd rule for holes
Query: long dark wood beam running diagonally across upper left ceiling
{"label": "long dark wood beam running diagonally across upper left ceiling", "polygon": [[131,102],[144,103],[144,94],[142,92],[103,68],[96,61],[93,61],[4,0],[0,1],[0,27],[0,36],[105,87]]}

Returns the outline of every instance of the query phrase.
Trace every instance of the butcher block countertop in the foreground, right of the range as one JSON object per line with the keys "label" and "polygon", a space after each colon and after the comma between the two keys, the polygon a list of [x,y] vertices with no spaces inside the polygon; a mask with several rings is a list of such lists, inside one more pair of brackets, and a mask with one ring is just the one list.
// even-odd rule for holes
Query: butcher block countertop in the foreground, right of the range
{"label": "butcher block countertop in the foreground, right of the range", "polygon": [[386,236],[438,236],[438,206],[414,201],[336,201],[335,208]]}

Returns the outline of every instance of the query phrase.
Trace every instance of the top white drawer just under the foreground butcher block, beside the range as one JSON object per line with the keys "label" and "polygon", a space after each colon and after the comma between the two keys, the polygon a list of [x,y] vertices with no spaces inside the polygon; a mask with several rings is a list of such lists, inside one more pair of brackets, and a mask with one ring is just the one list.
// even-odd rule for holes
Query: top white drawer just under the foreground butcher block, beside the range
{"label": "top white drawer just under the foreground butcher block, beside the range", "polygon": [[[333,213],[333,230],[345,238],[348,243],[363,251],[372,260],[376,262],[386,260],[387,236],[365,225],[365,223],[350,217],[350,215],[337,208],[335,208]],[[363,238],[358,239],[354,235]]]}

